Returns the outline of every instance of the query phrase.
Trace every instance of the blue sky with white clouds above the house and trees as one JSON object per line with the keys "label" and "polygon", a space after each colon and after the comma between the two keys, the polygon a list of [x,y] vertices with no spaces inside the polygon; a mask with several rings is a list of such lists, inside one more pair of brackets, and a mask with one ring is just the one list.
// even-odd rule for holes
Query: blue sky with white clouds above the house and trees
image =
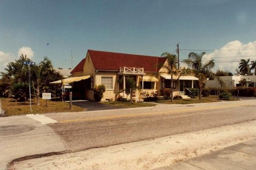
{"label": "blue sky with white clouds above the house and trees", "polygon": [[0,71],[26,54],[73,68],[88,49],[161,56],[206,52],[214,71],[256,60],[256,2],[0,0]]}

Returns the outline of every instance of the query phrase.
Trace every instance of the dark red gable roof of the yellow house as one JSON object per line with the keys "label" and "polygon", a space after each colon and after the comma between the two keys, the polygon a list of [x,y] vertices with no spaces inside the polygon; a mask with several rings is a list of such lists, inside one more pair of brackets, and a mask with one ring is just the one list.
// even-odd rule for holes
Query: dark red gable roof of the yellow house
{"label": "dark red gable roof of the yellow house", "polygon": [[[166,61],[166,57],[154,57],[146,55],[123,54],[113,52],[101,52],[97,50],[88,50],[91,56],[95,70],[114,70],[119,67],[138,67],[144,68],[144,72],[159,71],[159,64]],[[85,59],[83,59],[71,73],[82,72]]]}

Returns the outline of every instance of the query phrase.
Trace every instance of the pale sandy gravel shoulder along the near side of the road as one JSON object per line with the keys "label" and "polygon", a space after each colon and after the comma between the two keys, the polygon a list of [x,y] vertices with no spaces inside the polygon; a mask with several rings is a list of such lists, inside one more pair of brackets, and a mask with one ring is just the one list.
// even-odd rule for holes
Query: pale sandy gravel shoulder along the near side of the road
{"label": "pale sandy gravel shoulder along the near side of the road", "polygon": [[17,162],[10,169],[153,169],[256,139],[256,121]]}

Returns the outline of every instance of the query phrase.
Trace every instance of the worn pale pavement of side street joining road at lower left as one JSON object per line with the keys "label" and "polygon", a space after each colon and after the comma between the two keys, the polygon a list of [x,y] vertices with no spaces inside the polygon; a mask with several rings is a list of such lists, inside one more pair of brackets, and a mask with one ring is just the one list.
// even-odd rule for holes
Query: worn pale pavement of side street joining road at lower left
{"label": "worn pale pavement of side street joining road at lower left", "polygon": [[26,115],[0,118],[0,170],[17,158],[65,150],[59,135],[45,123]]}

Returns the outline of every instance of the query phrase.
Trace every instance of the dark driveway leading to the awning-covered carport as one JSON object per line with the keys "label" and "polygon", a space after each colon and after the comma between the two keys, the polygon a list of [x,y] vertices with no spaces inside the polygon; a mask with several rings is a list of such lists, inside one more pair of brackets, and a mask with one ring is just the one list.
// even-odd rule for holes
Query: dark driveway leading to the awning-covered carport
{"label": "dark driveway leading to the awning-covered carport", "polygon": [[121,107],[105,105],[99,102],[94,101],[73,101],[73,105],[84,108],[86,111],[102,111],[102,110],[110,110],[117,109]]}

